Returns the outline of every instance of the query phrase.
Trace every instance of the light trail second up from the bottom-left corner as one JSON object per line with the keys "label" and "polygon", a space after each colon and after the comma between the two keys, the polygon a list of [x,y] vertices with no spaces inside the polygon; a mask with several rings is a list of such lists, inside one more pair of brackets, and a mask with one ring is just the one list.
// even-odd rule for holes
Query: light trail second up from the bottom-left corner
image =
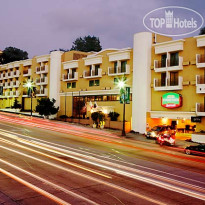
{"label": "light trail second up from the bottom-left corner", "polygon": [[87,199],[87,198],[85,198],[85,197],[83,197],[83,196],[80,196],[80,195],[78,195],[78,194],[76,194],[76,193],[74,193],[74,192],[72,192],[72,191],[69,191],[69,190],[67,190],[67,189],[65,189],[65,188],[63,188],[63,187],[61,187],[61,186],[59,186],[59,185],[57,185],[57,184],[54,184],[54,183],[52,183],[52,182],[50,182],[50,181],[48,181],[48,180],[46,180],[46,179],[43,179],[43,178],[41,178],[41,177],[39,177],[39,176],[37,176],[37,175],[35,175],[35,174],[29,172],[29,171],[26,171],[25,169],[22,169],[22,168],[20,168],[20,167],[14,165],[14,164],[11,164],[11,163],[5,161],[5,160],[3,160],[3,159],[0,159],[0,162],[1,162],[1,163],[4,163],[4,164],[6,164],[6,165],[8,165],[8,166],[10,166],[10,167],[12,167],[12,168],[14,168],[14,169],[20,171],[20,172],[23,172],[24,174],[27,174],[27,175],[29,175],[29,176],[31,176],[31,177],[33,177],[33,178],[35,178],[35,179],[37,179],[37,180],[39,180],[39,181],[45,183],[45,184],[48,184],[48,185],[54,187],[54,188],[57,189],[57,190],[63,191],[63,192],[65,192],[66,194],[69,194],[69,195],[71,195],[71,196],[73,196],[73,197],[82,199],[82,200],[84,200],[84,201],[86,201],[86,202],[88,202],[88,203],[90,203],[90,204],[98,205],[98,203],[95,203],[95,202],[93,202],[93,201],[91,201],[91,200],[89,200],[89,199]]}

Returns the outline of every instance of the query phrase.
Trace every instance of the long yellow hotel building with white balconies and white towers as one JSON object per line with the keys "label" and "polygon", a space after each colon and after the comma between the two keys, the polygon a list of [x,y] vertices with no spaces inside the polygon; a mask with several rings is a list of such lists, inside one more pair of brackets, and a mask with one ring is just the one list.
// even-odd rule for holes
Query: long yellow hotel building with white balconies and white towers
{"label": "long yellow hotel building with white balconies and white towers", "polygon": [[[115,111],[123,119],[119,79],[126,79],[127,130],[169,124],[178,131],[205,130],[205,35],[172,40],[149,32],[134,35],[133,48],[100,52],[54,51],[49,55],[0,66],[0,108],[14,99],[30,110],[25,83],[34,82],[36,97],[54,98],[58,116],[92,123],[91,112]],[[89,119],[89,120],[88,120]],[[105,124],[109,127],[109,120]],[[121,125],[116,125],[121,128]]]}

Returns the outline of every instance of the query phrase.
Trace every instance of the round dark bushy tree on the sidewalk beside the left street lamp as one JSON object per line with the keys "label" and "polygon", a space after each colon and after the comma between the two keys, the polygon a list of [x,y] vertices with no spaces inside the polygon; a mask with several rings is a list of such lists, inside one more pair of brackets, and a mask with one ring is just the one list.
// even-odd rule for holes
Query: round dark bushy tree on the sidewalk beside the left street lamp
{"label": "round dark bushy tree on the sidewalk beside the left street lamp", "polygon": [[56,100],[49,98],[41,98],[37,100],[37,106],[36,106],[36,112],[38,112],[40,115],[44,115],[48,117],[49,115],[54,115],[58,112],[59,107],[55,107]]}

